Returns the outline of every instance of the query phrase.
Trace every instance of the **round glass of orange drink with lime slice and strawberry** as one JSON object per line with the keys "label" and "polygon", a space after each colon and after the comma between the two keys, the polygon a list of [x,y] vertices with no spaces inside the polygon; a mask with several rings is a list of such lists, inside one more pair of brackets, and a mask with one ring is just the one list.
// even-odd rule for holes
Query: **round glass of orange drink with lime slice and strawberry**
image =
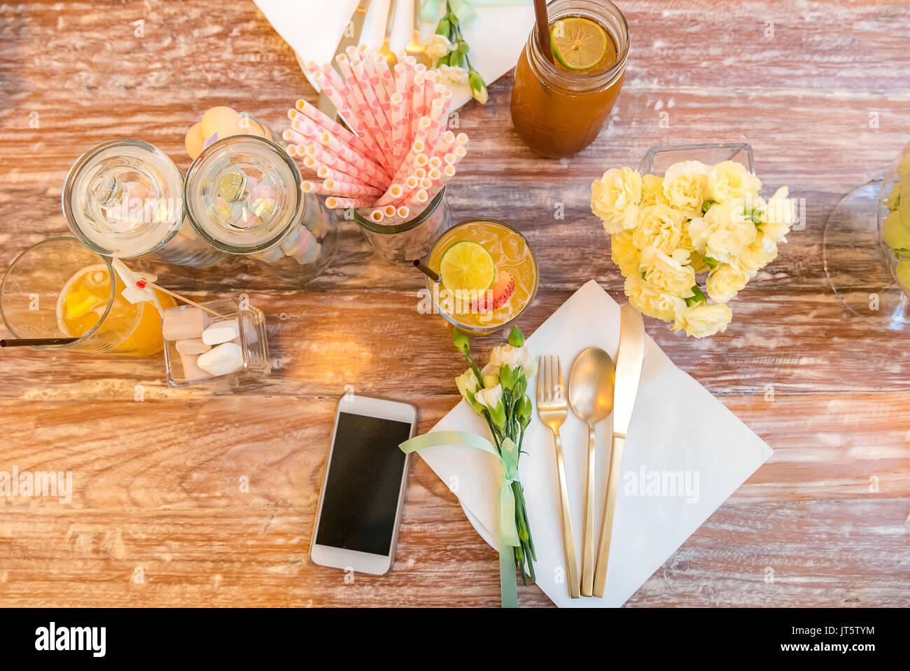
{"label": "round glass of orange drink with lime slice and strawberry", "polygon": [[460,329],[491,333],[511,325],[537,294],[534,252],[516,229],[494,219],[456,224],[436,241],[427,266],[434,307]]}

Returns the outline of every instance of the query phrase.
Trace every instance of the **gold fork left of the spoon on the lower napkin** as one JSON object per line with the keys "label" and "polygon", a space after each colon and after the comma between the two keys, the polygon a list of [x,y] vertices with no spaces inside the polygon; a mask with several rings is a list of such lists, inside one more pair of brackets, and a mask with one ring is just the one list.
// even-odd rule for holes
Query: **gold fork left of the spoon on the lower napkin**
{"label": "gold fork left of the spoon on the lower napkin", "polygon": [[571,533],[566,464],[562,458],[562,440],[560,438],[560,427],[562,422],[565,422],[568,413],[560,358],[553,356],[541,357],[537,372],[537,416],[553,432],[553,443],[556,446],[556,469],[559,473],[562,504],[562,549],[566,554],[569,595],[573,599],[577,599],[581,596],[581,589],[578,582],[578,562],[575,559],[575,537]]}

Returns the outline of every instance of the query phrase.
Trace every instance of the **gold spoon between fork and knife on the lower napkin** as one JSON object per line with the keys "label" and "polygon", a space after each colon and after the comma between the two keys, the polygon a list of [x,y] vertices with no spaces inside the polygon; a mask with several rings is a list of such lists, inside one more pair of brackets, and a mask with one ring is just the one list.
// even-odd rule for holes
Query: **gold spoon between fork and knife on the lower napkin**
{"label": "gold spoon between fork and knife on the lower napkin", "polygon": [[599,347],[582,350],[571,365],[569,404],[571,411],[588,424],[588,483],[584,493],[584,536],[581,544],[581,595],[594,591],[594,427],[613,411],[613,383],[616,367]]}

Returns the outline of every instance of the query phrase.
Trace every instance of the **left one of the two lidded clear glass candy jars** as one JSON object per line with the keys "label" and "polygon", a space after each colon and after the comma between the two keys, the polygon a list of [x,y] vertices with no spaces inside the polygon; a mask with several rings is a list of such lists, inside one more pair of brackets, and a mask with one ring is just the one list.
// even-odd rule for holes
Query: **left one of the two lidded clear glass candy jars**
{"label": "left one of the two lidded clear glass candy jars", "polygon": [[142,140],[108,140],[86,151],[66,176],[62,202],[69,229],[98,254],[194,268],[227,258],[184,219],[180,168]]}

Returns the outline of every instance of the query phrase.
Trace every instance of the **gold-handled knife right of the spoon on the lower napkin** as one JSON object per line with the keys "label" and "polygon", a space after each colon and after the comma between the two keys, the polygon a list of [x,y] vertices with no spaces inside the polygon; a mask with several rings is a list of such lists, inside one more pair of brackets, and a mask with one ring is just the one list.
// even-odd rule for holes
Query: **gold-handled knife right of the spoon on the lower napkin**
{"label": "gold-handled knife right of the spoon on the lower napkin", "polygon": [[607,500],[603,505],[601,545],[597,551],[594,571],[594,596],[603,596],[607,586],[607,565],[610,562],[610,537],[613,533],[613,513],[616,512],[616,493],[619,491],[622,448],[632,421],[635,393],[642,376],[644,361],[644,321],[642,313],[628,303],[620,310],[620,351],[616,355],[616,385],[613,387],[613,444],[610,454],[610,475],[607,479]]}

